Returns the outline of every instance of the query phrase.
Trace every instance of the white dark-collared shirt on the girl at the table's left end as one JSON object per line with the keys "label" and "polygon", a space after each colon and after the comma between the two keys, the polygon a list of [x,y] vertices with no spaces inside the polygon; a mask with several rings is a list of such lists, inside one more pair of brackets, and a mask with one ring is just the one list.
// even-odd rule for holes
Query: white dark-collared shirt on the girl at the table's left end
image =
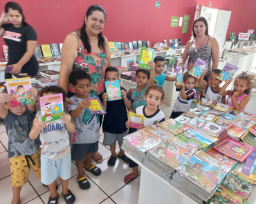
{"label": "white dark-collared shirt on the girl at the table's left end", "polygon": [[163,112],[161,112],[161,110],[159,108],[151,116],[147,116],[145,114],[145,108],[146,108],[146,105],[136,108],[136,114],[145,116],[144,126],[147,127],[150,125],[156,125],[157,123],[161,123],[161,122],[165,121],[165,114],[163,114]]}

